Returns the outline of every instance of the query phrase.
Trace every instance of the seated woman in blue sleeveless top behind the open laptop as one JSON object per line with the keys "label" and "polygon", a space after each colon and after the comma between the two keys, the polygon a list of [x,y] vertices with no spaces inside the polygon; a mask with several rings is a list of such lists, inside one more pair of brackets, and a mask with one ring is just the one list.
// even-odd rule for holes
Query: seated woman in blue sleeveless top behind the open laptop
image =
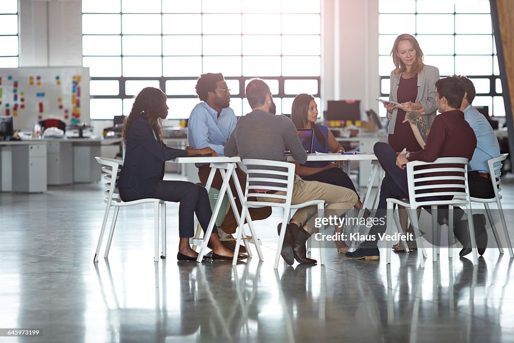
{"label": "seated woman in blue sleeveless top behind the open laptop", "polygon": [[[313,153],[340,153],[344,152],[343,147],[337,142],[330,130],[324,125],[316,124],[318,120],[318,105],[314,97],[308,94],[299,94],[292,103],[291,120],[297,129],[314,129]],[[350,176],[340,167],[339,163],[328,161],[308,161],[303,165],[297,163],[295,173],[306,181],[318,181],[326,184],[348,188],[357,193],[355,185]],[[357,196],[359,194],[357,193]],[[355,204],[360,209],[362,203],[359,200]],[[344,241],[343,241],[344,242]],[[338,246],[339,252],[346,252],[347,246],[341,242]],[[336,242],[337,243],[337,242]]]}

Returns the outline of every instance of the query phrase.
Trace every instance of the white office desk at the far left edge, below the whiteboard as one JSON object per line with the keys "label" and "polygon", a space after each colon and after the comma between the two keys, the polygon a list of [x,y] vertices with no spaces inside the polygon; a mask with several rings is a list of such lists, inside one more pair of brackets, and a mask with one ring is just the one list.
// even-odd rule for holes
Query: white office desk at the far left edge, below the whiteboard
{"label": "white office desk at the far left edge, below the whiteboard", "polygon": [[46,144],[39,139],[0,141],[0,191],[46,192]]}

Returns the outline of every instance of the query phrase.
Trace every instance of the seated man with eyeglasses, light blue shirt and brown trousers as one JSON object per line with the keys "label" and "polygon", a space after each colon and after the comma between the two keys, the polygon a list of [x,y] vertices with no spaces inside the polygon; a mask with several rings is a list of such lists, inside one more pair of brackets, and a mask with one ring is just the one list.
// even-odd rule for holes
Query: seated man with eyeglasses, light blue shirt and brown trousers
{"label": "seated man with eyeglasses, light blue shirt and brown trousers", "polygon": [[[234,111],[229,107],[230,89],[228,89],[221,73],[207,73],[198,78],[196,94],[201,102],[194,107],[189,116],[188,143],[193,149],[210,147],[218,156],[224,156],[225,143],[230,138],[237,121]],[[206,185],[211,172],[209,164],[196,164],[196,167],[198,168],[200,182]],[[240,168],[236,169],[236,173],[244,192],[246,173]],[[222,176],[219,171],[216,171],[211,187],[221,189],[222,183]],[[241,213],[241,202],[237,197],[232,179],[230,179],[229,185],[235,197],[237,211]],[[265,219],[271,215],[271,208],[251,209],[250,215],[253,220]],[[232,233],[235,233],[236,228],[237,222],[234,213],[232,210],[228,210],[223,223],[218,228],[218,234],[219,238],[222,239],[222,244],[232,251],[235,248],[235,239],[233,239]],[[245,247],[241,246],[240,252],[245,251]]]}

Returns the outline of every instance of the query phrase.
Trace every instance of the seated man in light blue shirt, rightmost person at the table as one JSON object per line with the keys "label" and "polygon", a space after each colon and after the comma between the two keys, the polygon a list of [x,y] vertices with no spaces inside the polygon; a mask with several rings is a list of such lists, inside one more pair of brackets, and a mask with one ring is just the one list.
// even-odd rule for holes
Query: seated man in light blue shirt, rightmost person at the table
{"label": "seated man in light blue shirt, rightmost person at the table", "polygon": [[473,82],[465,76],[458,78],[466,87],[461,111],[464,112],[464,119],[469,123],[476,136],[476,149],[468,165],[469,193],[473,197],[492,198],[494,190],[487,160],[500,156],[500,145],[487,118],[471,105],[476,95]]}

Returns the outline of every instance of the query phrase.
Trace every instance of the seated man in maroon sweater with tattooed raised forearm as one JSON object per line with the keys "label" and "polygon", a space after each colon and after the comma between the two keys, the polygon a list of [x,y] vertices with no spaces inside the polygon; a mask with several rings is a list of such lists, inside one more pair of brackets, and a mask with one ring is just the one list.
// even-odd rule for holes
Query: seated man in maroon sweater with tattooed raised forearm
{"label": "seated man in maroon sweater with tattooed raised forearm", "polygon": [[[433,162],[439,157],[465,157],[471,160],[473,152],[476,148],[476,136],[473,129],[464,120],[464,113],[461,112],[460,107],[462,99],[464,98],[466,88],[462,81],[456,77],[447,77],[440,79],[435,83],[436,86],[436,101],[437,109],[441,113],[436,116],[430,129],[430,134],[427,138],[427,144],[424,150],[416,152],[407,152],[405,154],[397,155],[393,148],[387,143],[378,142],[374,146],[375,155],[380,162],[386,176],[382,180],[380,188],[380,197],[377,210],[377,218],[383,218],[387,212],[387,198],[407,198],[409,194],[407,184],[407,171],[406,164],[409,161],[425,161]],[[424,200],[428,200],[425,198]],[[437,200],[434,197],[433,200]],[[439,221],[445,216],[444,208],[440,209]],[[442,215],[443,213],[443,215]],[[461,251],[461,256],[469,254],[471,249],[469,247],[469,235],[467,234],[467,225],[465,221],[461,220],[463,211],[458,209],[454,213],[454,222],[458,222],[455,226],[455,235],[463,243],[464,249]],[[477,236],[477,244],[485,250],[487,241],[487,234],[485,232],[484,223],[481,215],[473,216],[473,223]],[[375,225],[369,232],[370,238],[363,242],[354,252],[346,252],[346,257],[351,259],[367,259],[376,260],[379,257],[379,250],[377,248],[378,233],[386,231],[385,225]]]}

